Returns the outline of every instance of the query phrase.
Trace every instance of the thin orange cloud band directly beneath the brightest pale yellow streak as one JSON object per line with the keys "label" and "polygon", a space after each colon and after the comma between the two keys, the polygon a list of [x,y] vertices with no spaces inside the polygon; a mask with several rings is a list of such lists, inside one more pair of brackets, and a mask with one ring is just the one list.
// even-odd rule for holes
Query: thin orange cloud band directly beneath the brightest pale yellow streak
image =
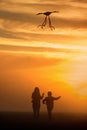
{"label": "thin orange cloud band directly beneath the brightest pale yellow streak", "polygon": [[[29,44],[28,44],[29,45]],[[72,49],[72,48],[61,48],[61,47],[56,47],[56,48],[53,48],[53,47],[45,47],[45,46],[36,46],[33,44],[30,45],[30,46],[22,46],[22,45],[0,45],[0,50],[1,51],[14,51],[14,52],[40,52],[42,55],[44,52],[47,52],[47,53],[67,53],[67,54],[70,54],[70,53],[78,53],[80,50],[75,50],[75,49]]]}

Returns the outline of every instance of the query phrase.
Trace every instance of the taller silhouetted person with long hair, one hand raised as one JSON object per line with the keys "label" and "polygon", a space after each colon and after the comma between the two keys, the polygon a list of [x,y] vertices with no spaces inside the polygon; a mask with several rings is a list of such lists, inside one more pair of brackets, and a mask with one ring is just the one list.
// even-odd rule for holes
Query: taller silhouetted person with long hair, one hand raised
{"label": "taller silhouetted person with long hair, one hand raised", "polygon": [[38,87],[35,87],[34,92],[32,93],[32,107],[33,107],[33,117],[34,119],[39,118],[40,113],[40,100],[44,97],[44,93],[40,95],[40,90]]}

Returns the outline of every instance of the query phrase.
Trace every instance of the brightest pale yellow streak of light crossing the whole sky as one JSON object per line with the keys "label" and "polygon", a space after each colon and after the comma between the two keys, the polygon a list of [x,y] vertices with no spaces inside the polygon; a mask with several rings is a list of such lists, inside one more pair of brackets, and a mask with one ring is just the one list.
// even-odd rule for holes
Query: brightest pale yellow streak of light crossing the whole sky
{"label": "brightest pale yellow streak of light crossing the whole sky", "polygon": [[10,41],[7,42],[1,40],[0,45],[6,45],[6,46],[16,46],[16,47],[45,47],[45,48],[54,48],[54,49],[70,49],[70,50],[77,50],[77,51],[83,51],[87,52],[87,46],[80,46],[80,45],[68,45],[62,43],[47,43],[47,42],[19,42],[18,41]]}

